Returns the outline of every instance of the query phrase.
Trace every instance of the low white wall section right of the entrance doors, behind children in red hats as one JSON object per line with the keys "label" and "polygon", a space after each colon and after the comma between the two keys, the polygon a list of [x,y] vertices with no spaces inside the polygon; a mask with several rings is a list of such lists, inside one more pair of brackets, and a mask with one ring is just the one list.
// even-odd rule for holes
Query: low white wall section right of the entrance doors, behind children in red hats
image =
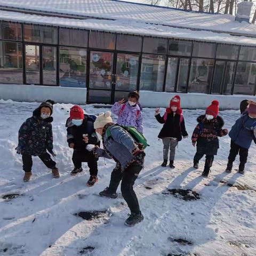
{"label": "low white wall section right of the entrance doors, behind children in red hats", "polygon": [[255,96],[249,95],[218,95],[203,93],[170,93],[140,91],[140,103],[142,107],[169,107],[174,95],[181,98],[183,109],[205,109],[213,100],[220,102],[220,109],[239,109],[240,102],[244,99],[256,101]]}

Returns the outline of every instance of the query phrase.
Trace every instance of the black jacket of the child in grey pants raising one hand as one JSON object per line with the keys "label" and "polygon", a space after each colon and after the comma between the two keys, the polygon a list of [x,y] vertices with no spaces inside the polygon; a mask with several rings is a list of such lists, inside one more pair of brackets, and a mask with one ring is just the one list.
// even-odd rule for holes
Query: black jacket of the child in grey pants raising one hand
{"label": "black jacket of the child in grey pants raising one hand", "polygon": [[173,115],[173,112],[167,114],[166,121],[164,120],[164,116],[161,116],[160,114],[156,115],[155,117],[159,123],[164,124],[163,128],[158,134],[159,139],[171,137],[177,138],[178,141],[181,141],[182,136],[188,136],[183,116],[181,122],[181,115]]}

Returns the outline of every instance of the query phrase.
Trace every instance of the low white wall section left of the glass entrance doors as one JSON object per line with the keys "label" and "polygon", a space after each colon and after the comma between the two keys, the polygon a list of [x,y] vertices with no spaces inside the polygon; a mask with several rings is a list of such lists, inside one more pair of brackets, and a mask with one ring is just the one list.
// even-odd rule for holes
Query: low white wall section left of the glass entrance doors
{"label": "low white wall section left of the glass entrance doors", "polygon": [[42,102],[52,99],[59,103],[86,103],[86,88],[0,84],[0,99]]}

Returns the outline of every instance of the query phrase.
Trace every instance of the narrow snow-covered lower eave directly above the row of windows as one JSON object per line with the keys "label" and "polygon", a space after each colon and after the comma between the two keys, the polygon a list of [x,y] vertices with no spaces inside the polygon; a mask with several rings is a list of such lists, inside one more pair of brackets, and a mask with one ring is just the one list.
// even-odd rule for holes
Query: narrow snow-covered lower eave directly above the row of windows
{"label": "narrow snow-covered lower eave directly above the row of windows", "polygon": [[224,33],[211,31],[199,31],[191,29],[173,28],[162,25],[150,25],[142,22],[127,20],[99,20],[99,19],[68,19],[47,17],[40,15],[23,14],[19,12],[0,11],[0,20],[25,22],[38,25],[60,26],[69,28],[81,28],[113,33],[145,35],[155,37],[192,39],[204,42],[218,42],[226,44],[256,45],[256,39],[245,36],[231,36]]}

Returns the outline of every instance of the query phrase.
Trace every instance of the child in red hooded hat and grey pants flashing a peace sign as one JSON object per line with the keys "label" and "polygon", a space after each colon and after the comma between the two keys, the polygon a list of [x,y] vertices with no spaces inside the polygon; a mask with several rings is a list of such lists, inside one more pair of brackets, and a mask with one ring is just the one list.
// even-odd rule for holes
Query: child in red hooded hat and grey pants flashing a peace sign
{"label": "child in red hooded hat and grey pants flashing a peace sign", "polygon": [[188,133],[185,127],[185,121],[182,115],[182,109],[180,108],[179,95],[174,96],[170,101],[170,107],[166,108],[166,112],[163,116],[159,114],[159,108],[156,109],[155,117],[157,121],[163,125],[158,138],[163,140],[164,144],[164,162],[162,166],[165,167],[168,161],[168,153],[170,147],[170,164],[171,168],[175,168],[174,156],[175,148],[178,142],[183,138],[188,137]]}

